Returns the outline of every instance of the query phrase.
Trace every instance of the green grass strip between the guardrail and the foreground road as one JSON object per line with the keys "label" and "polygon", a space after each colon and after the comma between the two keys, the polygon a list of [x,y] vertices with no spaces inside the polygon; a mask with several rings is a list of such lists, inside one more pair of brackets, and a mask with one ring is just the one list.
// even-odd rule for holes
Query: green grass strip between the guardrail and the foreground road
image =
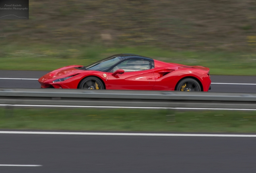
{"label": "green grass strip between the guardrail and the foreground road", "polygon": [[0,129],[256,132],[256,112],[0,109]]}

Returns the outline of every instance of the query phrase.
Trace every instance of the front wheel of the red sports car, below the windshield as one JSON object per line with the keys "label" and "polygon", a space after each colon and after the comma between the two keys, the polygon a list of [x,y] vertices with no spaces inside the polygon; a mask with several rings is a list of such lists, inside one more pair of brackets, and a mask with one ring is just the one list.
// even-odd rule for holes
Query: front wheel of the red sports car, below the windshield
{"label": "front wheel of the red sports car, below the windshield", "polygon": [[89,76],[81,80],[78,89],[104,89],[104,84],[99,78]]}

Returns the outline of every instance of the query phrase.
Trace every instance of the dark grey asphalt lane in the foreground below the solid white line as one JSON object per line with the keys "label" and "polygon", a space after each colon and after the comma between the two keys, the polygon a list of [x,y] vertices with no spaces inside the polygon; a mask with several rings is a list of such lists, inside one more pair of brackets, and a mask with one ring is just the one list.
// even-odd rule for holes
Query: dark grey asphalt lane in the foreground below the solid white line
{"label": "dark grey asphalt lane in the foreground below the solid white line", "polygon": [[1,173],[255,173],[255,137],[0,134]]}

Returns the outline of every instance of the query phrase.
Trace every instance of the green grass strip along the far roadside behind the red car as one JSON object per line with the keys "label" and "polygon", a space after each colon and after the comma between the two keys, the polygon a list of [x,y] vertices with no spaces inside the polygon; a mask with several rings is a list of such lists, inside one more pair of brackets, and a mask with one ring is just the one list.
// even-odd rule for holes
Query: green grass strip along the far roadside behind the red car
{"label": "green grass strip along the far roadside behind the red car", "polygon": [[112,54],[133,53],[165,62],[200,65],[210,68],[210,74],[255,75],[256,54],[243,52],[172,51],[150,46],[111,47],[2,45],[1,70],[54,70],[62,66],[87,65]]}

